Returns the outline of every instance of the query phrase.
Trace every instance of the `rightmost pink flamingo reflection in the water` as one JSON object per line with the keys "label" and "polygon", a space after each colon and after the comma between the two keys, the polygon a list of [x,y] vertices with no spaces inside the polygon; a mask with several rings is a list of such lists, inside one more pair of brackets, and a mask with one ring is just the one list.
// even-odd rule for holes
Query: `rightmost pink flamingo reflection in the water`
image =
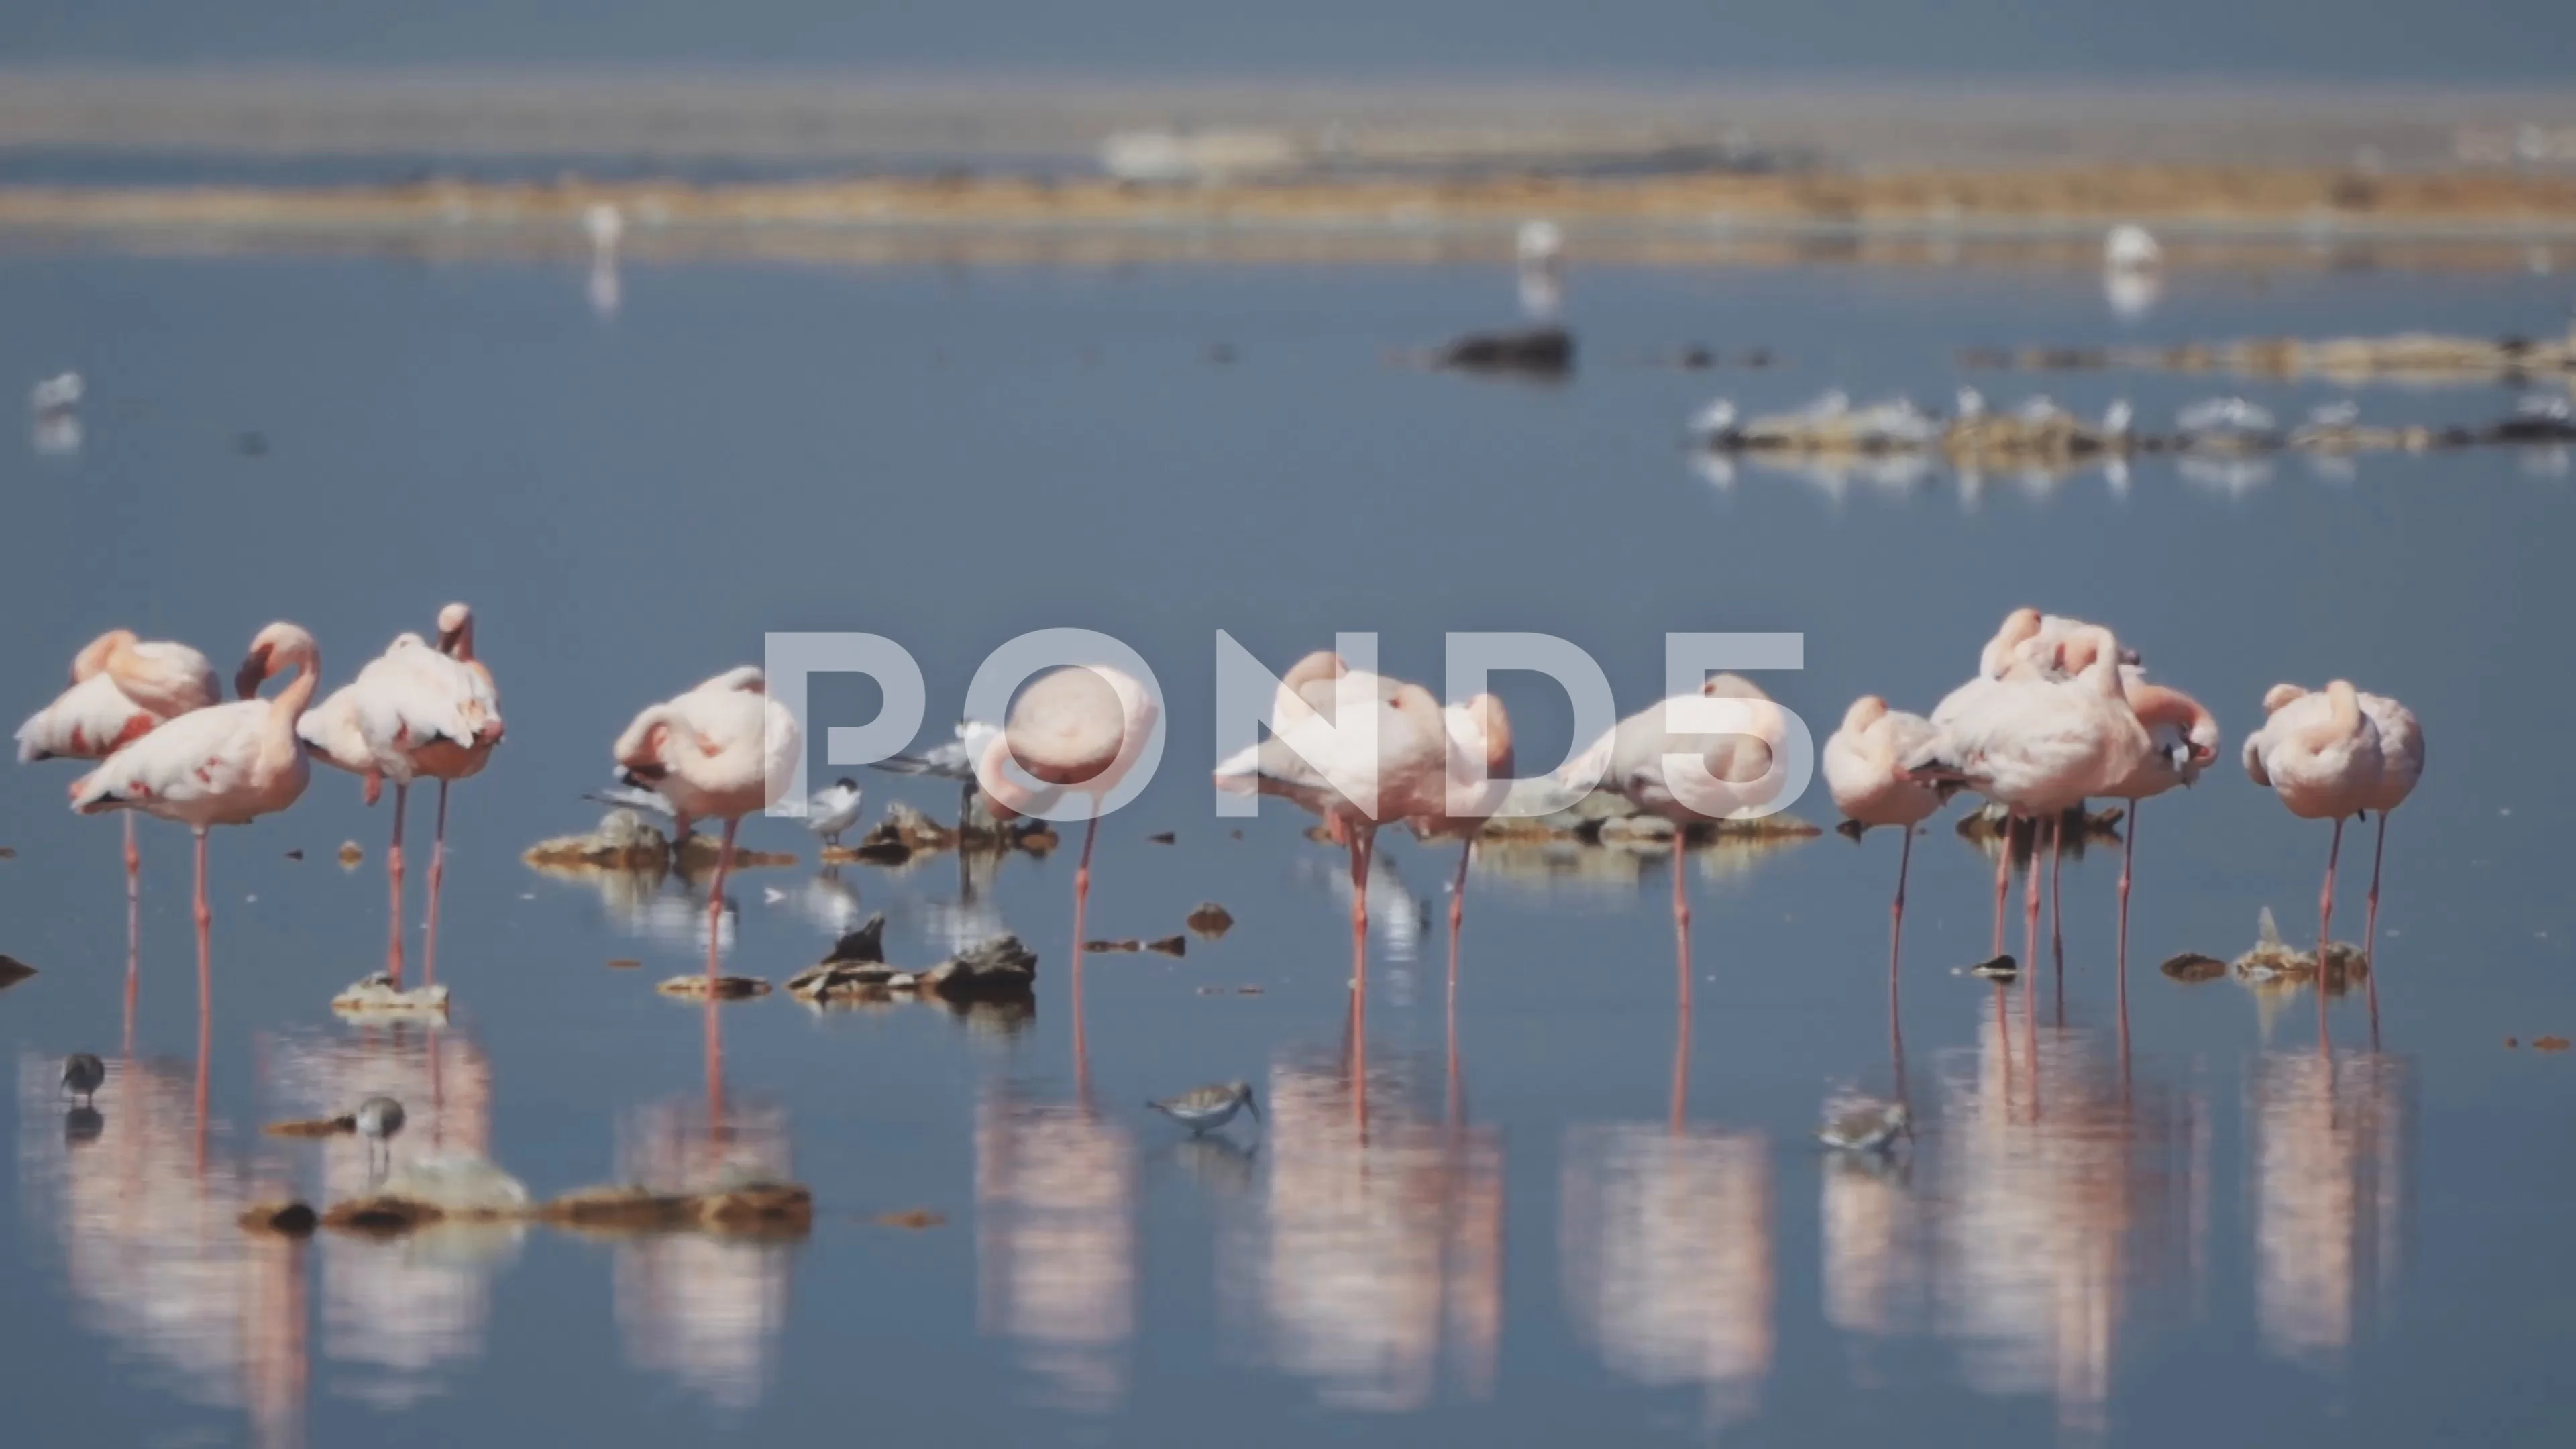
{"label": "rightmost pink flamingo reflection in the water", "polygon": [[2334,1361],[2403,1266],[2414,1067],[2267,1052],[2246,1078],[2254,1323],[2267,1351]]}

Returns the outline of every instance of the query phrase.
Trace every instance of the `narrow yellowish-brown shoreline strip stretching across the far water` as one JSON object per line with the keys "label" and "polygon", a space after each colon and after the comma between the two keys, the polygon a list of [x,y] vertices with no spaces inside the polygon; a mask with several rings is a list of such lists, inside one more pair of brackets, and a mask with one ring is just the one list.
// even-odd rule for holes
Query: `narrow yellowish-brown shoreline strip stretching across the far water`
{"label": "narrow yellowish-brown shoreline strip stretching across the far water", "polygon": [[[1043,242],[1311,260],[1502,258],[1530,217],[1602,260],[1726,260],[1762,248],[2035,248],[2097,258],[2141,222],[2174,266],[2280,245],[2494,250],[2576,242],[2576,175],[2251,168],[1667,175],[1461,183],[1280,180],[1136,186],[1033,178],[412,186],[0,186],[0,237],[124,237],[255,250],[410,240],[459,253],[587,255],[582,217],[616,206],[634,258]],[[1025,250],[1025,248],[1023,248]],[[863,258],[858,258],[863,260]],[[1868,260],[1868,258],[1865,258]],[[2486,263],[2468,266],[2496,266]],[[2439,266],[2439,260],[2434,260]]]}

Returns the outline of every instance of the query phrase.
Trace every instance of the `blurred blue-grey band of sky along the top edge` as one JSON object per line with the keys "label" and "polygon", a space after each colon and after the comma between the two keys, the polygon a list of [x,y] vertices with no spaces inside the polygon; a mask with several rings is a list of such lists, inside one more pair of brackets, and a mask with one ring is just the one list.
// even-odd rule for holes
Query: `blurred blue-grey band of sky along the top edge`
{"label": "blurred blue-grey band of sky along the top edge", "polygon": [[0,64],[1888,72],[2561,85],[2568,0],[10,0]]}

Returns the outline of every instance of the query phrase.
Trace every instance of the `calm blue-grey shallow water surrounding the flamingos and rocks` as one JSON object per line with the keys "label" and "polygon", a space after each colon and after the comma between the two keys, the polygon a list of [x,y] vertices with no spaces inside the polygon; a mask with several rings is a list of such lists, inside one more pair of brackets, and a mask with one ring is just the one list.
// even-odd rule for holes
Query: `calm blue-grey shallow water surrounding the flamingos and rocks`
{"label": "calm blue-grey shallow water surrounding the flamingos and rocks", "polygon": [[[2187,273],[2117,325],[2079,273],[1579,271],[1584,369],[1522,387],[1383,364],[1510,320],[1507,278],[1471,268],[706,263],[629,268],[600,317],[580,268],[5,258],[0,379],[90,382],[77,454],[0,454],[15,709],[111,624],[229,665],[260,624],[299,619],[330,681],[469,598],[510,740],[453,799],[443,1031],[325,1008],[384,946],[386,812],[317,773],[291,815],[214,841],[204,1039],[185,838],[144,822],[142,1000],[118,1052],[116,828],[62,810],[70,768],[0,776],[0,949],[44,972],[0,995],[18,1083],[0,1395],[31,1428],[137,1444],[853,1423],[1260,1444],[2535,1439],[2576,1343],[2553,1287],[2576,1168],[2532,1142],[2563,1122],[2576,1062],[2501,1042],[2576,1029],[2555,838],[2576,789],[2535,766],[2571,704],[2550,668],[2576,603],[2563,464],[2285,459],[2228,487],[2143,462],[2123,490],[2084,474],[1971,498],[1947,474],[1741,469],[1716,487],[1677,433],[1710,392],[1935,402],[1963,343],[2506,333],[2553,327],[2561,294]],[[1790,366],[1631,361],[1687,340]],[[1239,358],[1208,364],[1211,343]],[[2045,387],[2079,410],[2125,394],[2151,420],[2213,389]],[[2246,392],[2285,413],[2344,394]],[[2360,397],[2393,420],[2512,405]],[[1440,676],[1445,629],[1543,629],[1584,645],[1625,709],[1659,691],[1667,629],[1798,629],[1806,670],[1765,683],[1821,735],[1857,691],[1927,706],[2025,601],[2115,621],[2218,709],[2228,755],[2277,678],[2339,673],[2419,706],[2432,771],[2388,838],[2380,1049],[2357,1000],[2321,1057],[2313,998],[2154,972],[2182,949],[2233,957],[2264,905],[2293,938],[2316,928],[2326,833],[2233,763],[2146,807],[2128,1052],[2115,853],[2066,869],[2063,990],[2040,975],[2032,1036],[2022,990],[1999,1026],[1996,993],[1950,975],[1986,954],[1989,859],[1947,822],[1917,841],[1901,1083],[1883,833],[1695,856],[1687,1018],[1664,861],[1489,851],[1450,1011],[1453,856],[1394,846],[1427,905],[1381,890],[1355,1039],[1337,856],[1275,802],[1231,838],[1203,784],[1216,629],[1273,665],[1378,629],[1383,665],[1414,678]],[[732,969],[781,980],[853,910],[891,915],[899,962],[999,920],[1041,951],[1038,1011],[1010,1031],[729,1006],[711,1083],[708,1016],[649,990],[703,959],[690,902],[518,861],[595,820],[580,792],[608,779],[634,709],[755,660],[765,629],[904,642],[935,732],[987,650],[1056,624],[1128,639],[1170,701],[1162,776],[1103,830],[1087,933],[1172,933],[1200,900],[1239,918],[1182,962],[1092,957],[1079,1016],[1064,853],[1007,861],[981,913],[958,908],[953,859],[845,869],[840,890],[752,871]],[[1499,688],[1525,768],[1551,763],[1564,701]],[[871,706],[848,683],[817,709]],[[956,807],[935,784],[868,789]],[[1801,815],[1832,822],[1821,789]],[[345,838],[368,851],[353,871],[330,861]],[[786,822],[744,843],[811,859]],[[2365,882],[2357,835],[2336,936],[2360,936]],[[1234,985],[1262,993],[1200,993]],[[80,1145],[52,1091],[72,1049],[111,1057]],[[1139,1109],[1224,1078],[1270,1109],[1231,1129],[1242,1152]],[[1842,1085],[1904,1085],[1922,1119],[1906,1165],[1811,1150]],[[809,1181],[822,1214],[799,1245],[245,1240],[232,1217],[255,1196],[366,1181],[355,1145],[258,1127],[371,1091],[412,1109],[397,1152],[489,1150],[541,1194],[750,1160]],[[914,1207],[945,1222],[871,1222]]]}

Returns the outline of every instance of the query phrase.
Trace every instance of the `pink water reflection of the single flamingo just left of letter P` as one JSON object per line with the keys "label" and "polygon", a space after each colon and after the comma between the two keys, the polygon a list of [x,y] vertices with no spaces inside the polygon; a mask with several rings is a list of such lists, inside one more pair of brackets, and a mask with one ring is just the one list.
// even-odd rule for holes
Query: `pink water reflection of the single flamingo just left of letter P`
{"label": "pink water reflection of the single flamingo just left of letter P", "polygon": [[[639,1106],[618,1122],[618,1181],[670,1194],[796,1181],[786,1109],[729,1106],[721,1091],[711,1101]],[[613,1284],[626,1359],[719,1408],[757,1405],[788,1318],[791,1269],[791,1240],[711,1232],[621,1238]]]}

